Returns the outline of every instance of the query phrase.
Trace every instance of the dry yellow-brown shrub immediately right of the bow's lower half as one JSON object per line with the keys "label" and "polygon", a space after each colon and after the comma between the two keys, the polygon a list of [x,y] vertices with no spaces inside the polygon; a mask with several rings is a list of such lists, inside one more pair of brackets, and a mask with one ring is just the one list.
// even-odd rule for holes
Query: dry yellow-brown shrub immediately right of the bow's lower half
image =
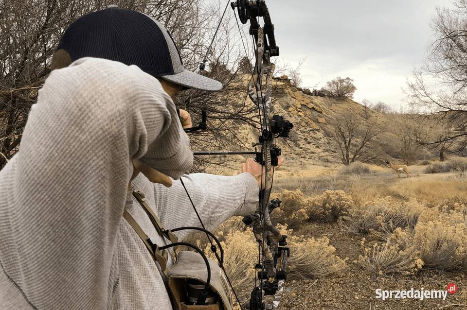
{"label": "dry yellow-brown shrub immediately right of the bow's lower half", "polygon": [[281,195],[281,207],[271,214],[274,223],[287,224],[291,229],[299,228],[308,219],[305,211],[305,198],[300,189],[284,189]]}

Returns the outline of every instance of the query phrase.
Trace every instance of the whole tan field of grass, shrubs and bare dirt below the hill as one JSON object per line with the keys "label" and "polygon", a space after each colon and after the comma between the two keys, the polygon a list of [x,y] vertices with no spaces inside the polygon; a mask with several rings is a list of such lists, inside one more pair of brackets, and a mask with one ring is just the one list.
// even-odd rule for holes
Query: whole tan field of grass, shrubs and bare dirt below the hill
{"label": "whole tan field of grass, shrubs and bare dirt below the hill", "polygon": [[[411,177],[401,178],[360,163],[277,170],[272,197],[282,206],[273,219],[287,225],[292,251],[280,309],[467,309],[467,175],[426,169],[409,166]],[[216,233],[247,298],[241,287],[252,284],[257,255],[251,231],[233,219]],[[375,293],[446,290],[449,283],[458,291],[446,300],[382,301]]]}

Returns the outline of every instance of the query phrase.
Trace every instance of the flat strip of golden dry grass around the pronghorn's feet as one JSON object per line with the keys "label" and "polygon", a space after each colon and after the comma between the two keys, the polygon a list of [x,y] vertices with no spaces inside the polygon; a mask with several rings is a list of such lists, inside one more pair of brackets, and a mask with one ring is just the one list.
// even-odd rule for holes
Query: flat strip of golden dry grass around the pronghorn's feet
{"label": "flat strip of golden dry grass around the pronghorn's feet", "polygon": [[467,177],[462,173],[423,174],[424,166],[410,166],[411,177],[398,179],[395,172],[386,167],[368,167],[369,174],[326,171],[321,176],[275,179],[274,189],[300,189],[305,196],[321,195],[326,190],[343,190],[360,204],[386,196],[403,201],[416,198],[430,206],[467,203]]}

